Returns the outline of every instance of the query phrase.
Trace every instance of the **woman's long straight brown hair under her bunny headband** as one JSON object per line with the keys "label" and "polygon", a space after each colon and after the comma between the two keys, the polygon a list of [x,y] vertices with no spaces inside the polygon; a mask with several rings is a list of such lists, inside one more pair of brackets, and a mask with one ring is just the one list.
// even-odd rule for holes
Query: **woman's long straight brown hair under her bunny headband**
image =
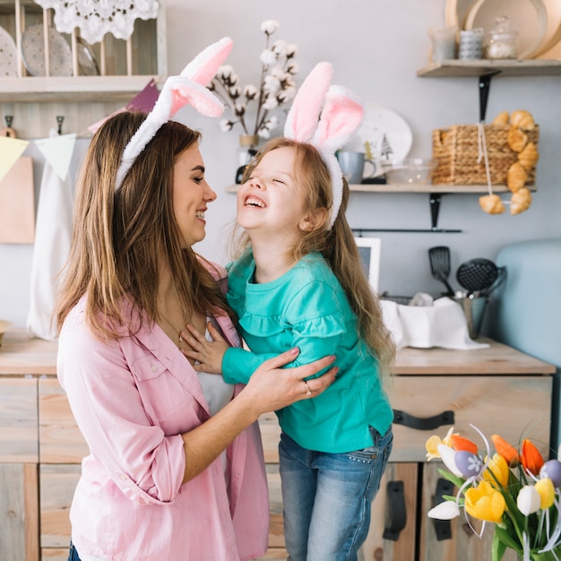
{"label": "woman's long straight brown hair under her bunny headband", "polygon": [[[73,236],[56,306],[56,326],[84,294],[86,319],[100,338],[118,339],[157,318],[159,272],[168,268],[187,313],[228,309],[217,283],[181,237],[172,203],[173,167],[201,134],[169,121],[134,161],[116,192],[125,145],[146,115],[111,117],[91,140],[76,188]],[[133,304],[125,312],[124,298]],[[131,317],[140,312],[140,324]],[[125,316],[125,314],[127,314]]]}

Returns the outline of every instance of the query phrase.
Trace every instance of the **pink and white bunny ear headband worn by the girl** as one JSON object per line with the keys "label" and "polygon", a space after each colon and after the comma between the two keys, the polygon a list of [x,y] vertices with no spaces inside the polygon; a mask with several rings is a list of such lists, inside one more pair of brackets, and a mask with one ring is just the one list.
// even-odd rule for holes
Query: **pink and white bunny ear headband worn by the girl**
{"label": "pink and white bunny ear headband worn by the girl", "polygon": [[331,86],[332,65],[319,63],[300,86],[284,126],[284,135],[315,146],[332,178],[333,208],[329,229],[337,218],[343,196],[343,174],[335,151],[350,141],[364,117],[355,94]]}

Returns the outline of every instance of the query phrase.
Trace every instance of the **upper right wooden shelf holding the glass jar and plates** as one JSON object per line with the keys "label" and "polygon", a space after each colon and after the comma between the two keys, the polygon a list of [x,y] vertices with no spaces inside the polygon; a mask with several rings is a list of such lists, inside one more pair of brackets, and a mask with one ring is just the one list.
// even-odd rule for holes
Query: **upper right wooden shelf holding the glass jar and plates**
{"label": "upper right wooden shelf holding the glass jar and plates", "polygon": [[424,78],[481,76],[500,72],[501,76],[561,76],[561,60],[442,60],[417,71]]}

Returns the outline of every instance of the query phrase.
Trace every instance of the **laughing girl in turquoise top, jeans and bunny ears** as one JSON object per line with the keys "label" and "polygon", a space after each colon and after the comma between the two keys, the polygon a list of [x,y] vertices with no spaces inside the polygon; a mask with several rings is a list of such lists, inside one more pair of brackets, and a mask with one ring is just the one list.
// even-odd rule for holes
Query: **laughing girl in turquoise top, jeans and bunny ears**
{"label": "laughing girl in turquoise top, jeans and bunny ears", "polygon": [[[328,152],[350,138],[362,108],[348,91],[325,93],[330,79],[325,63],[308,76],[289,113],[289,138],[257,153],[237,194],[244,253],[229,264],[228,300],[251,351],[227,350],[211,326],[214,342],[191,327],[185,333],[195,368],[231,383],[247,382],[287,346],[298,347],[298,361],[337,357],[339,375],[322,395],[277,411],[292,561],[357,559],[393,439],[383,384],[393,342],[345,218],[349,186]],[[306,381],[302,392],[310,392]]]}

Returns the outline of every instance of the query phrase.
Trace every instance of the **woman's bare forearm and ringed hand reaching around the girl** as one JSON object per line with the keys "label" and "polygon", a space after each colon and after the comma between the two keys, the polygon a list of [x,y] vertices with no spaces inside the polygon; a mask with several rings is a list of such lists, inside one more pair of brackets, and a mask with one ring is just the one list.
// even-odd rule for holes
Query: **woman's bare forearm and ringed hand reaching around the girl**
{"label": "woman's bare forearm and ringed hand reaching around the girl", "polygon": [[287,350],[264,362],[234,400],[211,419],[182,435],[186,455],[184,483],[205,470],[260,415],[295,401],[311,399],[332,383],[337,367],[309,381],[307,385],[311,393],[307,394],[304,378],[332,365],[335,357],[320,358],[300,367],[280,368],[294,361],[298,353],[298,349]]}

